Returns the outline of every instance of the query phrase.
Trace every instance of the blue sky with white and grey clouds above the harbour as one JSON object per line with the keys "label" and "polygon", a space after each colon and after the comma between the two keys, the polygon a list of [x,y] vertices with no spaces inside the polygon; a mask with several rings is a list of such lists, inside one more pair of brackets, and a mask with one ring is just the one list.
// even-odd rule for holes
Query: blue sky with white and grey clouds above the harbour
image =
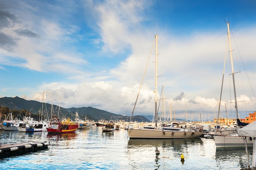
{"label": "blue sky with white and grey clouds above the harbour", "polygon": [[130,116],[148,62],[133,115],[153,115],[157,34],[158,115],[204,121],[220,103],[220,117],[236,118],[228,21],[239,117],[248,117],[255,9],[254,0],[0,0],[0,97]]}

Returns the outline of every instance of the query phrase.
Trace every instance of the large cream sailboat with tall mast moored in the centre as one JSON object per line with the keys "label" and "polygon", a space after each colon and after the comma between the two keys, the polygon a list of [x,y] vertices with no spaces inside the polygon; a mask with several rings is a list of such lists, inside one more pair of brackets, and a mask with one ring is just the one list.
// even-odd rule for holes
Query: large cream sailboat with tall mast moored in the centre
{"label": "large cream sailboat with tall mast moored in the centre", "polygon": [[[179,139],[179,138],[195,138],[200,137],[202,132],[184,129],[184,130],[177,130],[177,129],[164,129],[164,127],[157,128],[157,41],[158,35],[155,35],[155,127],[151,128],[126,128],[128,135],[130,138],[140,138],[140,139]],[[137,97],[138,98],[138,97]],[[136,101],[137,102],[137,101]],[[135,105],[136,105],[135,102]],[[134,106],[135,107],[135,106]],[[133,108],[134,110],[134,108]],[[133,111],[132,111],[133,113]]]}

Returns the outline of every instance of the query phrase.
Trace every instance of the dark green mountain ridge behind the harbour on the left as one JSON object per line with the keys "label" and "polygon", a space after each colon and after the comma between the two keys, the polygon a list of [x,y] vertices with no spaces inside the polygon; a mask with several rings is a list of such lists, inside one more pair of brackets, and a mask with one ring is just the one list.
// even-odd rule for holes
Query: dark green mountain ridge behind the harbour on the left
{"label": "dark green mountain ridge behind the harbour on the left", "polygon": [[[49,119],[51,113],[55,113],[56,115],[63,115],[63,117],[70,117],[71,119],[75,118],[75,113],[79,113],[79,117],[81,119],[85,119],[85,117],[89,120],[99,121],[101,119],[114,120],[114,121],[130,121],[130,116],[118,115],[115,113],[110,113],[106,110],[100,110],[98,108],[93,108],[91,106],[88,107],[80,107],[80,108],[63,108],[57,105],[52,105],[48,103],[42,103],[34,100],[26,100],[20,97],[1,97],[0,98],[0,107],[2,111],[2,107],[7,107],[12,110],[13,115],[19,113],[28,113],[34,116],[39,116],[39,113],[44,114],[44,117]],[[42,110],[43,108],[43,110]],[[54,110],[55,109],[55,110]],[[4,110],[4,109],[3,109]],[[20,111],[22,110],[22,111]],[[9,113],[9,110],[5,110],[5,112]],[[8,114],[3,113],[3,115]],[[2,115],[2,116],[3,116]],[[25,115],[22,115],[25,116]],[[132,121],[138,122],[150,122],[149,119],[143,116],[133,116]]]}

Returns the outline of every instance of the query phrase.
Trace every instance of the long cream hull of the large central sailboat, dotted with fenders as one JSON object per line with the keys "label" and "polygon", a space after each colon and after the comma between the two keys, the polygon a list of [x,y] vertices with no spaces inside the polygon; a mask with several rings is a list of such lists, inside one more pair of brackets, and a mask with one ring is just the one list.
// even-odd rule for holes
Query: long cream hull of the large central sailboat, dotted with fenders
{"label": "long cream hull of the large central sailboat, dotted with fenders", "polygon": [[161,129],[128,129],[132,139],[182,139],[200,137],[202,132],[175,132]]}

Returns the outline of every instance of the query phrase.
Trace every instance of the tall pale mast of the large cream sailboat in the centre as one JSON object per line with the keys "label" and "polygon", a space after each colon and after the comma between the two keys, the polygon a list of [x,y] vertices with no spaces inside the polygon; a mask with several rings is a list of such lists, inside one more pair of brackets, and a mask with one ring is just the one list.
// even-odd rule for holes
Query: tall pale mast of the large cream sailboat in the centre
{"label": "tall pale mast of the large cream sailboat in the centre", "polygon": [[155,35],[155,128],[157,127],[157,39],[158,35]]}

